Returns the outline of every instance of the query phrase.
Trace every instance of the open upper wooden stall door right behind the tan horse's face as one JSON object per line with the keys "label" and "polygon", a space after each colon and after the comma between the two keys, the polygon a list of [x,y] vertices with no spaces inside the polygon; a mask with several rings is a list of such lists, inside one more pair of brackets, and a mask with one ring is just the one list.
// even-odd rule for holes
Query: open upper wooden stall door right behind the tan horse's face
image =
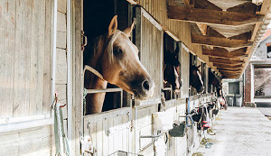
{"label": "open upper wooden stall door right behind the tan horse's face", "polygon": [[[163,31],[154,18],[141,7],[135,7],[135,45],[139,58],[154,79],[153,100],[161,99],[163,66]],[[152,101],[152,100],[150,100]]]}

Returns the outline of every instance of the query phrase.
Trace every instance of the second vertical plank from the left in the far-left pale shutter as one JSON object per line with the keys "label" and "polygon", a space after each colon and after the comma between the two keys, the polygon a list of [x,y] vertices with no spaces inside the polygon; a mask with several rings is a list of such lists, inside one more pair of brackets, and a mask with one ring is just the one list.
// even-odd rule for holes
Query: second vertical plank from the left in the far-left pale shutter
{"label": "second vertical plank from the left in the far-left pale shutter", "polygon": [[30,51],[31,51],[31,28],[32,1],[26,0],[16,3],[16,30],[14,57],[14,116],[29,114],[29,79],[30,79]]}

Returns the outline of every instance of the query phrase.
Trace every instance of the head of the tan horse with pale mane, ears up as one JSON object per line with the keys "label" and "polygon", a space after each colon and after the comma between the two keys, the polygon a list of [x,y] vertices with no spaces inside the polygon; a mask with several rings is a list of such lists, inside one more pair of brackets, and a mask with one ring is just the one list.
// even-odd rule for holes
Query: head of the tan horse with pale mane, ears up
{"label": "head of the tan horse with pale mane, ears up", "polygon": [[154,93],[154,80],[138,58],[138,49],[129,40],[134,23],[124,32],[117,30],[117,15],[111,20],[106,35],[100,36],[94,47],[97,68],[103,78],[135,98],[144,100]]}

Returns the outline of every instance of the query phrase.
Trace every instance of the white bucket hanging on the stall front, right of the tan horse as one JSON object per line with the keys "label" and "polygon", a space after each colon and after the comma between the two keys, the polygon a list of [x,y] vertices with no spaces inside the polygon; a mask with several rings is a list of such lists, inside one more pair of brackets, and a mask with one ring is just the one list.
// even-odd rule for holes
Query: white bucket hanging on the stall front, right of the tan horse
{"label": "white bucket hanging on the stall front, right of the tan horse", "polygon": [[153,118],[156,130],[166,131],[173,129],[172,112],[156,112],[153,114]]}

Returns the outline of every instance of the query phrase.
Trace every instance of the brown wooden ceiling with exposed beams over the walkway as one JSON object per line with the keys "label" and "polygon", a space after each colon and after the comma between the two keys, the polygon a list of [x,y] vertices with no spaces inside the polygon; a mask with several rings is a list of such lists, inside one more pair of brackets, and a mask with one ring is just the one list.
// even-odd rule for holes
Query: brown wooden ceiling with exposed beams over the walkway
{"label": "brown wooden ceiling with exposed beams over the walkway", "polygon": [[241,76],[270,0],[264,5],[251,0],[169,1],[168,18],[192,24],[192,43],[202,45],[203,55],[222,77]]}

